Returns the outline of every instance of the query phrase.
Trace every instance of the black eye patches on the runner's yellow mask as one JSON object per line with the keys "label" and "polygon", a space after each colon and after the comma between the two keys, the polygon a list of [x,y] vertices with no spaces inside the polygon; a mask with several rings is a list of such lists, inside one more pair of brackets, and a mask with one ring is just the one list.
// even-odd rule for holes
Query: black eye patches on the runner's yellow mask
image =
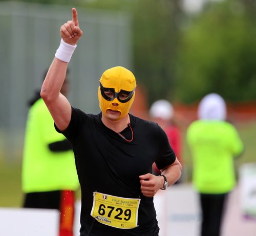
{"label": "black eye patches on the runner's yellow mask", "polygon": [[101,83],[99,83],[99,85],[101,96],[107,101],[113,101],[117,98],[120,103],[126,103],[131,100],[135,91],[135,89],[132,91],[121,89],[120,92],[116,92],[115,88],[105,88]]}

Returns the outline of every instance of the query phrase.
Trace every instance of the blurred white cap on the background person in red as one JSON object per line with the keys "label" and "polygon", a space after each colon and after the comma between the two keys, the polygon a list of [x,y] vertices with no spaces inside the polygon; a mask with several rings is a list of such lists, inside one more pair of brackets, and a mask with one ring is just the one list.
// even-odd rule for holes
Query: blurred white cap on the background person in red
{"label": "blurred white cap on the background person in red", "polygon": [[150,115],[152,118],[161,118],[169,120],[173,117],[174,108],[167,100],[157,100],[150,108]]}

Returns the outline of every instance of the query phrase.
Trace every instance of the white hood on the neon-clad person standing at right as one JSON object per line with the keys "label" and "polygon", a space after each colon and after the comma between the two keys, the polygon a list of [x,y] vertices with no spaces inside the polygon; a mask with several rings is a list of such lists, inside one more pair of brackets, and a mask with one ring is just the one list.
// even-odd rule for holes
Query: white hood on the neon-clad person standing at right
{"label": "white hood on the neon-clad person standing at right", "polygon": [[217,93],[206,95],[198,106],[198,118],[200,120],[226,120],[226,103]]}

